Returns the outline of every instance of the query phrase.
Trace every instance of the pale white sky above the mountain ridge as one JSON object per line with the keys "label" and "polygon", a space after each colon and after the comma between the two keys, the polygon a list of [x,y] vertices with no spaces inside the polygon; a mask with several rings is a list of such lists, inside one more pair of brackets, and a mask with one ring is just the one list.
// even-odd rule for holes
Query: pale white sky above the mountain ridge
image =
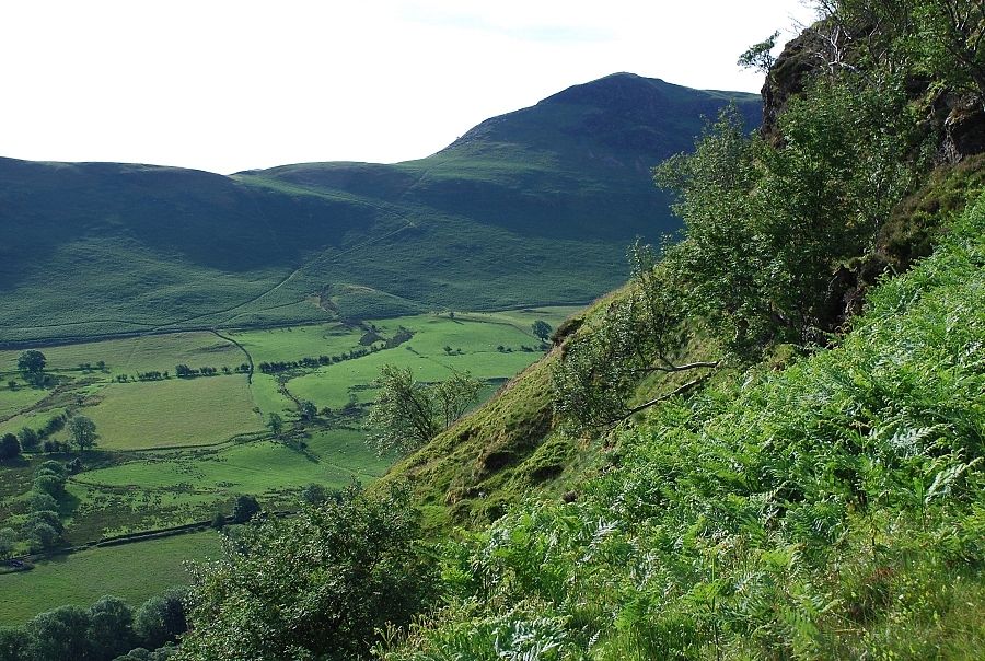
{"label": "pale white sky above the mountain ridge", "polygon": [[812,16],[803,0],[2,2],[0,156],[406,161],[618,71],[758,92],[739,55]]}

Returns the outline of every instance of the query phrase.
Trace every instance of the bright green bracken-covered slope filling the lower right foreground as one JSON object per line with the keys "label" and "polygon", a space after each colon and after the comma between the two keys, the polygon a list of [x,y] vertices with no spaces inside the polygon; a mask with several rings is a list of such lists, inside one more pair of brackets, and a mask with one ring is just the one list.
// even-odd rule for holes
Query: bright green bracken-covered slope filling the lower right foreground
{"label": "bright green bracken-covered slope filling the lower right foreground", "polygon": [[[494,638],[558,658],[982,658],[983,231],[985,198],[871,292],[837,348],[669,402],[576,502],[541,494],[452,542],[443,576],[461,601],[387,658],[479,654]],[[551,360],[513,387],[535,392]],[[452,445],[399,472],[439,495]],[[457,461],[474,467],[475,451]]]}

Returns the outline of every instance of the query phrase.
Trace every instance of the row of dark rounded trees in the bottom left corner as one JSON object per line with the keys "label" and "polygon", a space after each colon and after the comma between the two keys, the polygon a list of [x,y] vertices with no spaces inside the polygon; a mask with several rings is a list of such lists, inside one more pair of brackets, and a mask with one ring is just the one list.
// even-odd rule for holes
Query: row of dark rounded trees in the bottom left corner
{"label": "row of dark rounded trees in the bottom left corner", "polygon": [[104,596],[88,608],[61,606],[23,627],[0,627],[0,661],[164,661],[187,630],[184,598],[172,590],[134,610]]}

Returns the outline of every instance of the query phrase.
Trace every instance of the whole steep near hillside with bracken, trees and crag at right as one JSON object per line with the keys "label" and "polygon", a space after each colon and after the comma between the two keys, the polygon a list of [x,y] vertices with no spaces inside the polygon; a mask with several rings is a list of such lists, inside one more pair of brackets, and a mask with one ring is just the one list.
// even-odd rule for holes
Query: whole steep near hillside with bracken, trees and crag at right
{"label": "whole steep near hillside with bracken, trees and crag at right", "polygon": [[985,656],[985,15],[825,7],[746,54],[763,131],[656,169],[679,241],[368,492],[225,545],[178,658]]}

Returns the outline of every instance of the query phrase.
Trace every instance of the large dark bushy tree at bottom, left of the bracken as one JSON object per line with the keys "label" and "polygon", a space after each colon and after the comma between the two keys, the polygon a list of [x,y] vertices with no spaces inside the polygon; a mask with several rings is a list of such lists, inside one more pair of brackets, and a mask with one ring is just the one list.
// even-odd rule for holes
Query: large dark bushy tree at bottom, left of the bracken
{"label": "large dark bushy tree at bottom, left of the bracken", "polygon": [[[368,658],[387,623],[424,611],[433,564],[406,490],[349,487],[338,501],[250,525],[194,568],[189,659]],[[248,624],[246,624],[248,623]]]}

